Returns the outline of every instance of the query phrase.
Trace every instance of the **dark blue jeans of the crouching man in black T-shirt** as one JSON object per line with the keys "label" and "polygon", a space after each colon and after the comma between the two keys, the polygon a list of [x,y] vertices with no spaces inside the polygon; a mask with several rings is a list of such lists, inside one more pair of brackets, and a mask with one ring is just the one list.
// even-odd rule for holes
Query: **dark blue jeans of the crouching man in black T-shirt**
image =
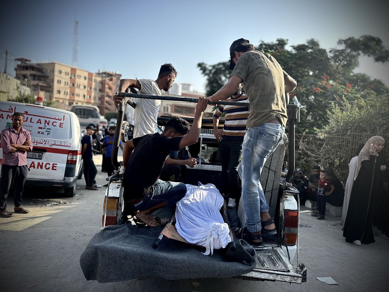
{"label": "dark blue jeans of the crouching man in black T-shirt", "polygon": [[186,194],[186,185],[184,183],[174,183],[172,181],[158,181],[150,188],[150,193],[142,201],[135,206],[135,210],[146,210],[159,204],[166,202],[166,207],[171,206],[180,201]]}

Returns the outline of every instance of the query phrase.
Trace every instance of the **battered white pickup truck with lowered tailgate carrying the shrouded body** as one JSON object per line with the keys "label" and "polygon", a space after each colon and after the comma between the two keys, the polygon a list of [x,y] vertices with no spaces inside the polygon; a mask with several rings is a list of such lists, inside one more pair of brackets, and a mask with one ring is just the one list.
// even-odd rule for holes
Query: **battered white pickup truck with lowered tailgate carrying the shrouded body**
{"label": "battered white pickup truck with lowered tailgate carrying the shrouded body", "polygon": [[[261,177],[261,185],[264,188],[266,200],[270,206],[270,215],[274,216],[278,231],[276,241],[263,241],[261,245],[253,246],[256,250],[257,264],[250,273],[236,276],[244,280],[269,280],[284,281],[289,283],[302,283],[307,281],[307,269],[304,264],[298,262],[298,235],[299,235],[299,202],[294,198],[298,197],[298,191],[285,181],[280,183],[280,178],[291,178],[294,169],[294,127],[299,120],[299,104],[296,98],[294,104],[288,104],[289,127],[288,134],[267,160]],[[119,106],[120,107],[120,106]],[[119,108],[115,142],[112,152],[112,162],[116,172],[107,178],[108,187],[103,203],[102,225],[121,224],[128,220],[124,218],[123,188],[123,163],[117,161],[117,146],[119,138],[125,142],[125,129],[127,125],[123,121],[124,106]],[[169,120],[168,116],[158,117],[158,126],[162,131]],[[187,119],[189,123],[193,119]],[[219,127],[223,126],[223,119]],[[191,169],[187,167],[184,172],[184,183],[197,185],[198,181],[203,184],[213,183],[221,187],[221,165],[218,162],[210,162],[210,155],[216,153],[218,142],[213,134],[212,118],[203,118],[202,133],[199,137],[200,159],[198,165]],[[288,148],[289,171],[281,173],[285,151]],[[214,160],[212,160],[214,161]],[[296,195],[297,194],[297,195]],[[243,204],[239,204],[238,217],[240,222],[245,222]],[[124,220],[123,220],[124,219]],[[297,255],[297,264],[293,266],[294,257]],[[189,263],[188,263],[189,264]],[[196,281],[193,283],[197,283]],[[195,284],[194,284],[195,285]]]}

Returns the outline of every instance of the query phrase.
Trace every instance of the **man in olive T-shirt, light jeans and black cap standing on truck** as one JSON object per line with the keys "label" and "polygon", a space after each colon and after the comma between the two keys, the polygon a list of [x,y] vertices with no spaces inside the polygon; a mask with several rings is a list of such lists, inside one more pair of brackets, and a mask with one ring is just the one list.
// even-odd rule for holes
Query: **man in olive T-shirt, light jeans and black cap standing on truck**
{"label": "man in olive T-shirt, light jeans and black cap standing on truck", "polygon": [[243,82],[250,102],[250,115],[242,145],[242,162],[238,167],[247,223],[242,236],[258,244],[262,242],[262,227],[266,236],[277,234],[259,180],[266,159],[284,135],[286,93],[296,87],[296,81],[282,70],[277,60],[263,51],[256,51],[248,40],[235,40],[230,47],[230,56],[230,70],[233,70],[230,80],[208,99],[210,104],[225,100]]}

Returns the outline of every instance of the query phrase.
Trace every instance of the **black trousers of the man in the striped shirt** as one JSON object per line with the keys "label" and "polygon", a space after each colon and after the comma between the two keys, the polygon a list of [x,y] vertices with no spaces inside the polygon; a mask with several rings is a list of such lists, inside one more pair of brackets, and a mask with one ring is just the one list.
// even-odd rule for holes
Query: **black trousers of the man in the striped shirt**
{"label": "black trousers of the man in the striped shirt", "polygon": [[230,198],[239,201],[242,186],[239,183],[238,165],[242,158],[243,140],[229,139],[223,136],[219,142],[223,193],[230,193]]}

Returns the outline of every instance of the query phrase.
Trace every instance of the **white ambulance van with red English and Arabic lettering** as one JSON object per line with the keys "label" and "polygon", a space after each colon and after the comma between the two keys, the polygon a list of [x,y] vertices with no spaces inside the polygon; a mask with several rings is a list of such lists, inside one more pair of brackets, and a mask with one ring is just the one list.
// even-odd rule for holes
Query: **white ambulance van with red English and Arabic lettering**
{"label": "white ambulance van with red English and Arabic lettering", "polygon": [[[53,107],[0,101],[0,130],[12,125],[13,113],[23,113],[23,128],[31,134],[33,149],[27,153],[29,169],[25,186],[63,188],[75,195],[81,171],[81,130],[77,116]],[[3,151],[0,148],[0,165]]]}

